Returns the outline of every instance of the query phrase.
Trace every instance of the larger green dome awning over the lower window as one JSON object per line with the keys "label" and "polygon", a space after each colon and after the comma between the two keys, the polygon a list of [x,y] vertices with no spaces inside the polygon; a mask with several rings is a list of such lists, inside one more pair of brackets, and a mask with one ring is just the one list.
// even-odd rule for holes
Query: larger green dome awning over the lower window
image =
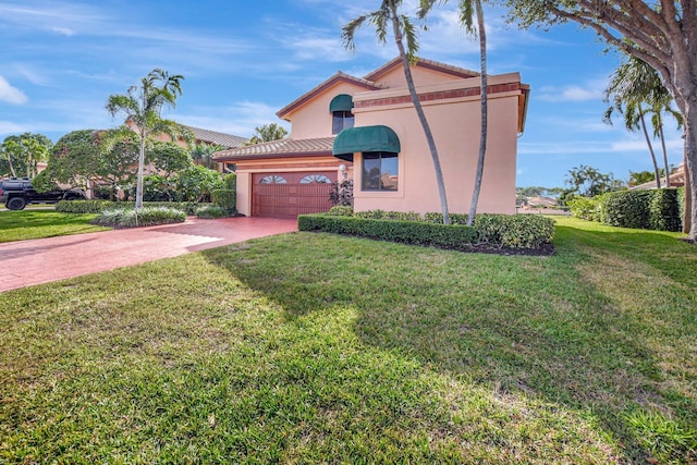
{"label": "larger green dome awning over the lower window", "polygon": [[350,127],[339,133],[334,139],[332,155],[342,160],[353,161],[357,151],[402,151],[400,138],[388,126]]}

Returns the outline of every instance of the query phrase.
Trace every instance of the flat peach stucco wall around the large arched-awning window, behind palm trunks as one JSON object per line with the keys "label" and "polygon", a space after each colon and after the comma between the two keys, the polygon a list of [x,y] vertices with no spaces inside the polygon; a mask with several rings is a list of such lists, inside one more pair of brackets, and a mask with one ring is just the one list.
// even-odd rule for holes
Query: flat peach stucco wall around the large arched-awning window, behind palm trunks
{"label": "flat peach stucco wall around the large arched-awning window, behind palm trunks", "polygon": [[[476,79],[478,81],[478,79]],[[378,91],[355,98],[377,98]],[[517,145],[517,109],[519,91],[489,96],[489,137],[479,212],[515,212],[515,171]],[[424,102],[433,132],[445,181],[451,212],[469,210],[474,187],[480,133],[478,97]],[[360,155],[355,155],[354,208],[356,210],[440,211],[440,199],[432,158],[411,105],[362,108],[356,111],[356,126],[384,124],[400,137],[400,184],[394,192],[360,189]]]}

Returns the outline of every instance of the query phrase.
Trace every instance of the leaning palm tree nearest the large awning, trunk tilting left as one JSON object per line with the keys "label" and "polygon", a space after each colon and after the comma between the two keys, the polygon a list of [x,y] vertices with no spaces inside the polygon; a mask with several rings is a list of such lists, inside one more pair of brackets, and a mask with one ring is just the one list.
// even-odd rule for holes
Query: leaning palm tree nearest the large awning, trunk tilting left
{"label": "leaning palm tree nearest the large awning, trunk tilting left", "polygon": [[[405,14],[400,14],[399,7],[402,5],[402,0],[382,0],[380,9],[370,13],[360,15],[348,24],[342,27],[341,37],[344,40],[344,47],[347,50],[355,50],[356,46],[354,37],[356,30],[364,24],[370,23],[375,26],[378,40],[382,44],[387,42],[388,28],[392,25],[392,33],[394,34],[394,41],[396,42],[398,50],[400,51],[400,59],[402,60],[402,66],[404,68],[404,76],[406,78],[406,85],[409,89],[409,96],[412,97],[412,103],[416,109],[416,114],[424,129],[424,135],[428,143],[428,148],[431,152],[433,161],[433,170],[436,171],[436,182],[438,184],[438,193],[440,196],[440,205],[443,213],[443,223],[450,224],[450,213],[448,211],[448,197],[445,195],[445,182],[443,180],[443,172],[440,167],[440,158],[438,156],[438,149],[436,148],[436,140],[431,132],[430,125],[426,120],[426,114],[421,108],[418,94],[416,93],[416,86],[414,85],[414,77],[412,76],[411,64],[416,63],[416,52],[418,51],[418,39],[416,37],[416,29],[412,20]],[[403,39],[406,38],[406,50],[404,48]]]}

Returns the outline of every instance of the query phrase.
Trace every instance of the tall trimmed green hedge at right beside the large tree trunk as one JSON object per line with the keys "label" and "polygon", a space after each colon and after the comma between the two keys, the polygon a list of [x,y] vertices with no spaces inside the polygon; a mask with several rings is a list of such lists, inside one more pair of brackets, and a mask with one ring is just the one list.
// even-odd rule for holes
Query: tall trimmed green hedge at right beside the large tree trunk
{"label": "tall trimmed green hedge at right beside the large tree trunk", "polygon": [[684,188],[619,191],[568,200],[574,217],[612,227],[680,231]]}

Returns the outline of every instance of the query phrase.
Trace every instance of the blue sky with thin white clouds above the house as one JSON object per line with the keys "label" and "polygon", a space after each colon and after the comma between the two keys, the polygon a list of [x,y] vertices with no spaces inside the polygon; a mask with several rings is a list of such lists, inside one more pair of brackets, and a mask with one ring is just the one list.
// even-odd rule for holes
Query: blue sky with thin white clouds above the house
{"label": "blue sky with thin white clouds above the house", "polygon": [[[456,2],[451,2],[456,4]],[[183,95],[167,114],[181,123],[250,136],[280,123],[276,111],[337,71],[363,76],[396,56],[374,32],[357,51],[342,48],[341,26],[378,0],[63,0],[0,1],[0,140],[35,132],[57,140],[74,130],[113,127],[111,94],[155,68],[182,74]],[[405,12],[416,0],[405,1]],[[478,44],[439,8],[420,34],[419,54],[478,70]],[[531,86],[518,140],[517,185],[563,185],[591,166],[615,178],[651,170],[643,136],[603,124],[602,91],[620,61],[575,25],[518,30],[487,10],[489,72],[517,71]],[[669,123],[673,126],[672,122]],[[478,129],[473,129],[476,133]],[[668,131],[669,161],[682,139]],[[659,150],[658,145],[656,149]]]}

